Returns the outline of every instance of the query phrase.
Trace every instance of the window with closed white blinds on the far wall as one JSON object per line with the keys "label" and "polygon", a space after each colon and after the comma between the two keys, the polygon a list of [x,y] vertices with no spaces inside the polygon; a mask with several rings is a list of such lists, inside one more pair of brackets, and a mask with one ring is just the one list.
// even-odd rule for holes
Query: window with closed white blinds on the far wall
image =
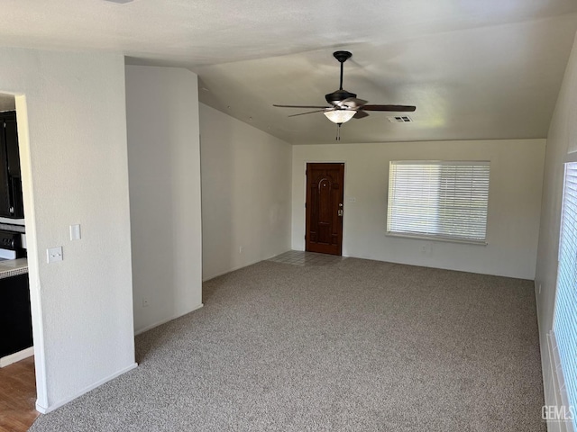
{"label": "window with closed white blinds on the far wall", "polygon": [[391,161],[387,232],[485,243],[490,163]]}

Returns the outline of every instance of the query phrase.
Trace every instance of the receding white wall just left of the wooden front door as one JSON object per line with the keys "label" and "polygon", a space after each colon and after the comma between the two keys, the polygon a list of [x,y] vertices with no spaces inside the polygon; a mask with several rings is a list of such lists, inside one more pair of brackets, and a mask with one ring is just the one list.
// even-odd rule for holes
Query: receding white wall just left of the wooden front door
{"label": "receding white wall just left of the wooden front door", "polygon": [[290,249],[291,147],[203,103],[200,132],[207,280]]}

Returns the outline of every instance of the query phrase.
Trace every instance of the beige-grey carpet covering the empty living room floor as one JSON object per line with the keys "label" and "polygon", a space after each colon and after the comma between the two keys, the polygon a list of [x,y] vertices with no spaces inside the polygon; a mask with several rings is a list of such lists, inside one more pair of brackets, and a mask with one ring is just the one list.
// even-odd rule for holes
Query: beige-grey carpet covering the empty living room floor
{"label": "beige-grey carpet covering the empty living room floor", "polygon": [[530,281],[348,258],[204,290],[31,430],[545,431]]}

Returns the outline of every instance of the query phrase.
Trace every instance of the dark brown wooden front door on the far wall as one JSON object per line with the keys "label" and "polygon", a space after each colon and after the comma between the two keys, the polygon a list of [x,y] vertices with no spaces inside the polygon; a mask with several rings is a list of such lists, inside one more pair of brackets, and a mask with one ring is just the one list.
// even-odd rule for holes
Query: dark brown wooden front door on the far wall
{"label": "dark brown wooden front door on the far wall", "polygon": [[344,164],[307,164],[307,251],[343,253]]}

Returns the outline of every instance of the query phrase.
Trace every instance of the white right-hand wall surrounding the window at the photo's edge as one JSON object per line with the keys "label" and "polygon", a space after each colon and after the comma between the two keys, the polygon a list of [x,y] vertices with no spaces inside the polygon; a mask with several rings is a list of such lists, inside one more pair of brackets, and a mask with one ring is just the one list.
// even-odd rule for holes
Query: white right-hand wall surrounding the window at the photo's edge
{"label": "white right-hand wall surrounding the window at the photo's edge", "polygon": [[[577,160],[577,43],[565,71],[563,85],[554,111],[547,137],[545,157],[545,179],[543,188],[543,210],[536,266],[536,301],[541,340],[545,403],[554,405],[551,360],[547,350],[547,334],[553,328],[555,289],[557,281],[557,257],[561,226],[561,204],[563,198],[563,162],[568,153]],[[541,287],[541,293],[539,293]],[[549,430],[558,430],[559,425],[549,425]]]}

